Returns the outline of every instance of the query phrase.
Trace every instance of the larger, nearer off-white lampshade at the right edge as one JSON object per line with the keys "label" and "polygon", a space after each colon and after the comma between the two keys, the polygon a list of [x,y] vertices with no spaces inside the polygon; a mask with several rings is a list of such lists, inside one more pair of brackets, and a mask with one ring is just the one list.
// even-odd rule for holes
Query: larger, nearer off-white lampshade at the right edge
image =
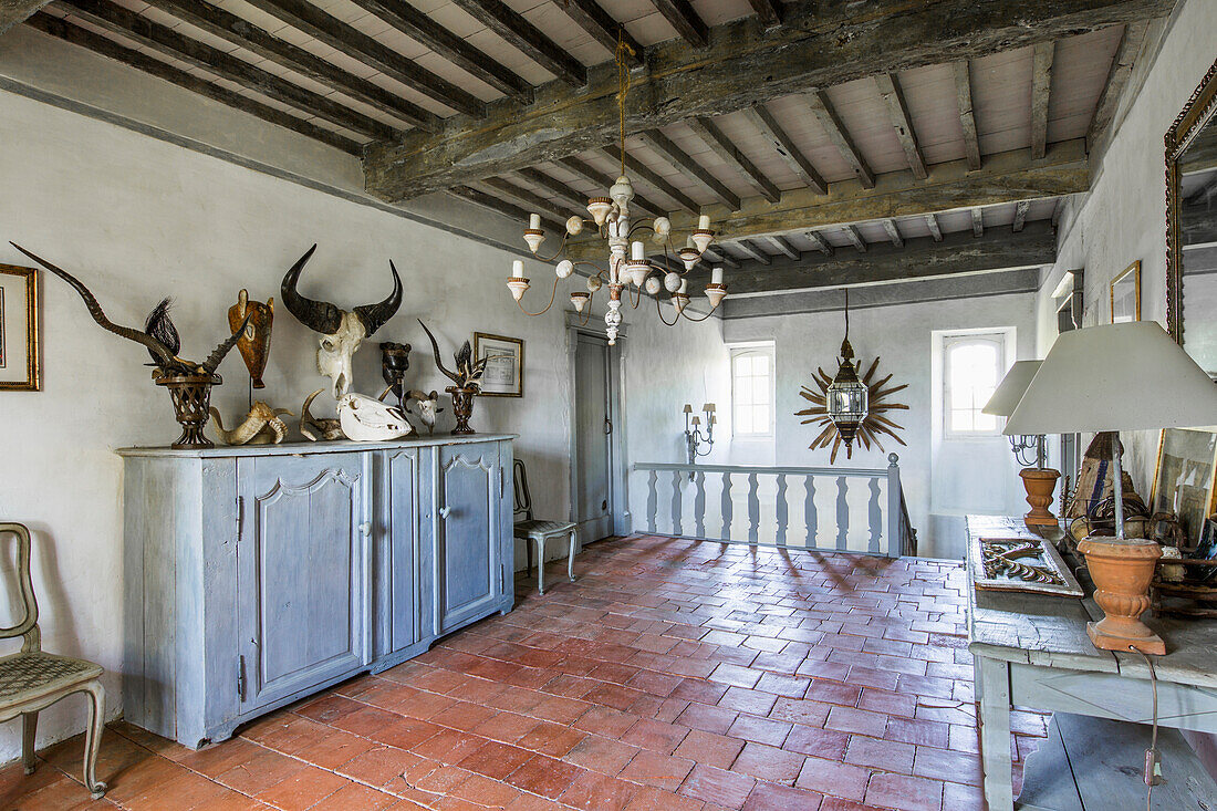
{"label": "larger, nearer off-white lampshade at the right edge", "polygon": [[1065,332],[1027,386],[1008,436],[1217,423],[1217,385],[1157,321]]}

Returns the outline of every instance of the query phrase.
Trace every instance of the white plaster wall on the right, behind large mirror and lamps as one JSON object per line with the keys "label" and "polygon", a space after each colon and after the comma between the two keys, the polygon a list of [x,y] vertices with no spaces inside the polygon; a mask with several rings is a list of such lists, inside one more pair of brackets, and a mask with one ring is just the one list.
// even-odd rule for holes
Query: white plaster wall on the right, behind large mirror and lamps
{"label": "white plaster wall on the right, behind large mirror and lamps", "polygon": [[[1185,0],[1177,7],[1165,41],[1135,67],[1139,93],[1123,107],[1094,180],[1071,201],[1058,237],[1056,263],[1037,295],[1038,346],[1044,357],[1055,339],[1051,292],[1066,270],[1086,269],[1083,324],[1111,318],[1111,279],[1134,259],[1142,262],[1142,318],[1166,324],[1166,180],[1162,138],[1217,56],[1217,2]],[[1189,308],[1188,319],[1212,319]],[[1149,496],[1157,431],[1123,436],[1127,470],[1138,492]]]}

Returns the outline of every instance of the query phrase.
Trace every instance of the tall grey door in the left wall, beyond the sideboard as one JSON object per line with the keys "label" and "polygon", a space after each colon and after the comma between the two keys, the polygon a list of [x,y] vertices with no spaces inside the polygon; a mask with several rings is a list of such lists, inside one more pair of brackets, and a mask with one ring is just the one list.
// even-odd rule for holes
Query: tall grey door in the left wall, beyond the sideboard
{"label": "tall grey door in the left wall, beyond the sideboard", "polygon": [[578,335],[574,348],[574,520],[583,542],[612,533],[608,342]]}

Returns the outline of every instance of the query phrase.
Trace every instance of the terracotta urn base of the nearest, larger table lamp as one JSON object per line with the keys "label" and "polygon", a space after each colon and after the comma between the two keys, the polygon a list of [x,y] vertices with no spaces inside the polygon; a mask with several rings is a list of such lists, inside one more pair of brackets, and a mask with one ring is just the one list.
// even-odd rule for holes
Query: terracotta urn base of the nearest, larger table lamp
{"label": "terracotta urn base of the nearest, larger table lamp", "polygon": [[1086,626],[1094,647],[1165,654],[1166,643],[1140,621],[1149,609],[1149,585],[1162,547],[1145,538],[1089,536],[1077,550],[1086,555],[1095,586],[1094,602],[1106,615]]}

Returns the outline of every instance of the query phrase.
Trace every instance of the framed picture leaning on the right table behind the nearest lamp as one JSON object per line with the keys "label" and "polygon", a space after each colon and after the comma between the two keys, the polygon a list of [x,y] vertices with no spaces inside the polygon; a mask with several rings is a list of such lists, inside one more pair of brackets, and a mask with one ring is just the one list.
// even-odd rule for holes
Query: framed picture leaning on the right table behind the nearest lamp
{"label": "framed picture leaning on the right table behind the nearest lamp", "polygon": [[1154,466],[1151,513],[1174,513],[1188,536],[1200,542],[1205,519],[1212,514],[1213,474],[1217,472],[1217,431],[1166,429]]}

